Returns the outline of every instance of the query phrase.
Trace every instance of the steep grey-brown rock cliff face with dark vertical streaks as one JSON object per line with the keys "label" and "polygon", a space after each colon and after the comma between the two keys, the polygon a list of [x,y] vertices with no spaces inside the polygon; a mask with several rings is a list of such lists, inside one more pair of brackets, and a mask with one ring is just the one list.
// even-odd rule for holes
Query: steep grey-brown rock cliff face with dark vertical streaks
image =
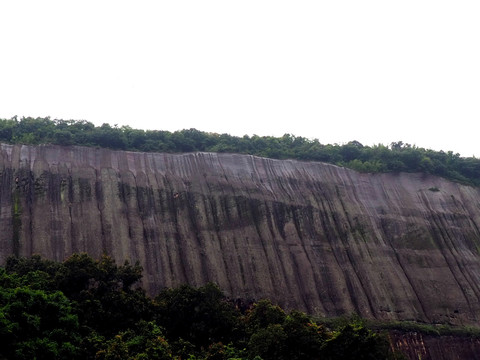
{"label": "steep grey-brown rock cliff face with dark vertical streaks", "polygon": [[1,145],[0,261],[139,260],[310,313],[478,324],[480,190],[233,154]]}

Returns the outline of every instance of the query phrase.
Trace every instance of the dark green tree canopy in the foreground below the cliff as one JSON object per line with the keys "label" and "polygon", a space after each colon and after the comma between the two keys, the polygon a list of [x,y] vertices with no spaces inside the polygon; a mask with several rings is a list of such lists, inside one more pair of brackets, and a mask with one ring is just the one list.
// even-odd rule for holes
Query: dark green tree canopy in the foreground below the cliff
{"label": "dark green tree canopy in the foreground below the cliff", "polygon": [[75,254],[63,263],[11,257],[0,268],[0,359],[399,359],[386,336],[249,306],[213,284],[136,288],[138,265]]}

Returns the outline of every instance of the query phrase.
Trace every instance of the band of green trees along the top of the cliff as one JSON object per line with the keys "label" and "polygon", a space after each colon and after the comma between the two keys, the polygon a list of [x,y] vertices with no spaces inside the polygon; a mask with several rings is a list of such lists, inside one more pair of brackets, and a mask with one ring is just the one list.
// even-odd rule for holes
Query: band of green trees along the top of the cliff
{"label": "band of green trees along the top of the cliff", "polygon": [[95,126],[88,121],[50,118],[0,119],[0,141],[21,144],[98,146],[144,152],[229,152],[274,159],[322,161],[361,172],[423,172],[480,186],[480,159],[452,151],[434,151],[401,141],[388,146],[321,144],[285,134],[282,137],[243,136],[202,132],[138,130],[129,126]]}

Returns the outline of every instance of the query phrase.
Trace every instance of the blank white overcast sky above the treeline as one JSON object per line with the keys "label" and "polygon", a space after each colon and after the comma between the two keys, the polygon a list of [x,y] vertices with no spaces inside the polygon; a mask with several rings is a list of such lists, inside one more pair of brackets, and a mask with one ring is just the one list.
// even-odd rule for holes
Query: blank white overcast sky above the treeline
{"label": "blank white overcast sky above the treeline", "polygon": [[0,0],[0,117],[480,157],[480,1]]}

